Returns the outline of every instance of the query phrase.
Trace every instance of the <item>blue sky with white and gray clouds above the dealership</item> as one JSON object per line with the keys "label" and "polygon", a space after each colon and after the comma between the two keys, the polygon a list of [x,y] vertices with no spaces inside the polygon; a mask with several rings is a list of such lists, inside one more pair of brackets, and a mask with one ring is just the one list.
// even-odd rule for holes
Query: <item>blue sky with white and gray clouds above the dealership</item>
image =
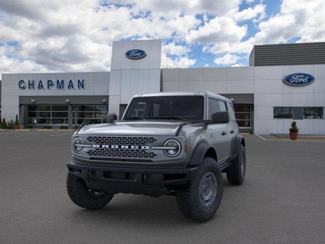
{"label": "blue sky with white and gray clouds above the dealership", "polygon": [[325,41],[323,0],[0,0],[0,73],[110,71],[112,42],[161,67],[248,66],[253,45]]}

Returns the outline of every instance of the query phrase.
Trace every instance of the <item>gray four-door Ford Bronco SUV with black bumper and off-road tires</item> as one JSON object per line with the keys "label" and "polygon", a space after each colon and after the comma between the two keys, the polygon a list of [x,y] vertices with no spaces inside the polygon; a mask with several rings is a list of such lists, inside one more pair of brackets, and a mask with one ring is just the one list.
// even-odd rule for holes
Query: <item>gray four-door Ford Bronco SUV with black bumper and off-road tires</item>
{"label": "gray four-door Ford Bronco SUV with black bumper and off-road tires", "polygon": [[210,92],[139,94],[121,120],[83,124],[67,163],[71,200],[100,209],[114,194],[176,196],[183,216],[207,221],[222,198],[222,173],[245,178],[245,140],[231,100]]}

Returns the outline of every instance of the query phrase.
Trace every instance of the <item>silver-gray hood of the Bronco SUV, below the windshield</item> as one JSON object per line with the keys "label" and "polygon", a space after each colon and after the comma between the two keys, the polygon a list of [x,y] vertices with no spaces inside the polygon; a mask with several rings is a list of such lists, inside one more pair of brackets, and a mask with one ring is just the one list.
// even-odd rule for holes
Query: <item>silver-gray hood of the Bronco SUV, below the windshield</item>
{"label": "silver-gray hood of the Bronco SUV, below the windshield", "polygon": [[175,136],[183,121],[121,121],[84,126],[78,135]]}

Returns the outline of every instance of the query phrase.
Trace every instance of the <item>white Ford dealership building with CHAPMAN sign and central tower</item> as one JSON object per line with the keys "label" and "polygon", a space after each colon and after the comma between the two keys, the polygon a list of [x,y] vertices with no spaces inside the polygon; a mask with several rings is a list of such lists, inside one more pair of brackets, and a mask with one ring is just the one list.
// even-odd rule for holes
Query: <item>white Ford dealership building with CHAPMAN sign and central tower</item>
{"label": "white Ford dealership building with CHAPMAN sign and central tower", "polygon": [[325,42],[256,45],[249,67],[161,69],[161,40],[113,42],[110,72],[2,74],[1,117],[74,128],[120,117],[135,94],[208,90],[242,132],[325,134]]}

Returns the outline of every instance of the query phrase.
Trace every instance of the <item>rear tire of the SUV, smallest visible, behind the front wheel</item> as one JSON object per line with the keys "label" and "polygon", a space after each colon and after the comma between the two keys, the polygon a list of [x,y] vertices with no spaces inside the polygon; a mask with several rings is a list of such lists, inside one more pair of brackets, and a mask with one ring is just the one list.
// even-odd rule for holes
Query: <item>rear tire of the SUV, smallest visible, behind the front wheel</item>
{"label": "rear tire of the SUV, smallest visible, behind the front wheel", "polygon": [[245,147],[241,144],[237,157],[232,161],[231,166],[226,170],[227,179],[230,184],[241,185],[246,174]]}

